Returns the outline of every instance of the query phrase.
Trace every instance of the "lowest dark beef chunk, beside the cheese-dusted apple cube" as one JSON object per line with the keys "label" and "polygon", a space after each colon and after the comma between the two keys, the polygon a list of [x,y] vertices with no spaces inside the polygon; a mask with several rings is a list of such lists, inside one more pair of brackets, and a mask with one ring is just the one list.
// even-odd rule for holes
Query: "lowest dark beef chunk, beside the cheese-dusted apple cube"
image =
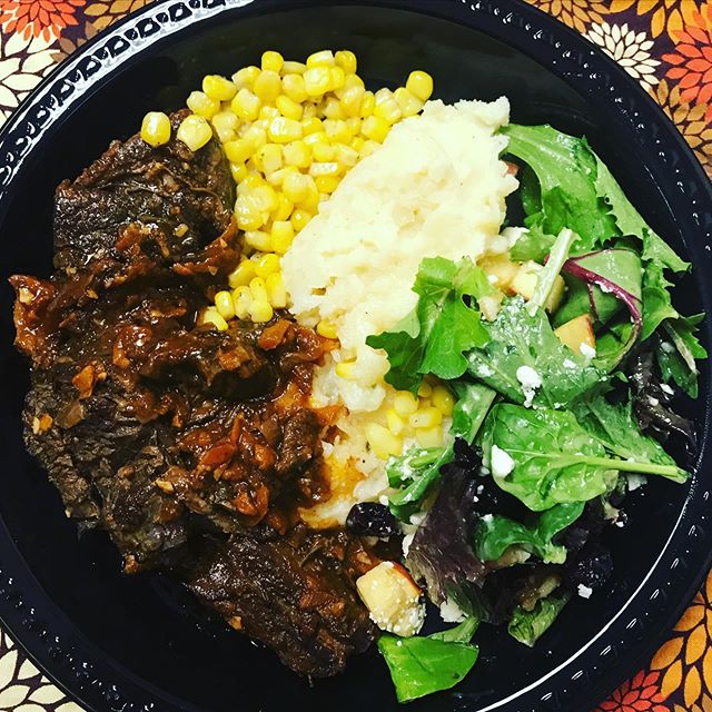
{"label": "lowest dark beef chunk, beside the cheese-dusted apple cube", "polygon": [[195,572],[189,587],[234,627],[274,641],[286,665],[322,678],[374,637],[348,561],[363,570],[377,563],[343,533],[274,541],[237,535]]}

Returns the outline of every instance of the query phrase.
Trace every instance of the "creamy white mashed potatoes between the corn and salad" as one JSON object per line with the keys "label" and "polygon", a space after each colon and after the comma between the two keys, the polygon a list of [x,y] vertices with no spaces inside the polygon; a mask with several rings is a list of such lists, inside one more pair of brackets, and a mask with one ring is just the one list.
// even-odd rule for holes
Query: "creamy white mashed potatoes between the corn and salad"
{"label": "creamy white mashed potatoes between the corn and salad", "polygon": [[[385,423],[394,392],[383,380],[385,353],[366,338],[415,306],[412,286],[421,260],[476,260],[511,245],[500,229],[517,181],[500,160],[506,138],[497,135],[508,110],[505,98],[428,102],[349,171],[283,258],[297,320],[312,327],[328,322],[340,342],[314,384],[315,405],[347,408],[330,455],[333,472],[350,462],[366,478],[353,495],[335,486],[338,502],[317,507],[315,516],[343,521],[354,500],[376,498],[385,487],[384,463],[368,452],[363,431],[368,422]],[[348,377],[335,373],[338,362],[349,363]]]}

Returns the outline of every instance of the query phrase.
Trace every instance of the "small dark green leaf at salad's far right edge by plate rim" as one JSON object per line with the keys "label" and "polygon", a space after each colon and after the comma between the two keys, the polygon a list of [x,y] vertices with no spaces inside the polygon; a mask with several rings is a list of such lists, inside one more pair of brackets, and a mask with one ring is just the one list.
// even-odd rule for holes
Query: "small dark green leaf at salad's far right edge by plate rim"
{"label": "small dark green leaf at salad's far right edge by plate rim", "polygon": [[691,398],[698,397],[698,366],[695,359],[706,358],[706,350],[700,344],[695,332],[704,314],[680,317],[665,322],[664,328],[670,342],[657,345],[657,364],[665,383],[673,380]]}

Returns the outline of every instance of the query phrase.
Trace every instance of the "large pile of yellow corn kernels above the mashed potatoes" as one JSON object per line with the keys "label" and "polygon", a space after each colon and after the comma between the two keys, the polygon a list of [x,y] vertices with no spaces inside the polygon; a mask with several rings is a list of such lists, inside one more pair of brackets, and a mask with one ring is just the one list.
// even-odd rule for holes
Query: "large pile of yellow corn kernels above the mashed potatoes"
{"label": "large pile of yellow corn kernels above the mashed potatoes", "polygon": [[[370,155],[390,128],[421,111],[433,79],[414,71],[395,91],[365,88],[350,51],[315,52],[306,63],[267,51],[260,67],[245,67],[231,79],[202,80],[187,100],[190,116],[176,137],[191,150],[212,136],[222,144],[237,184],[235,216],[245,231],[246,257],[219,291],[204,323],[220,330],[231,318],[268,322],[287,306],[280,256],[336,190],[342,178]],[[149,112],[141,137],[151,146],[170,139],[165,113]],[[336,336],[333,325],[319,334]]]}

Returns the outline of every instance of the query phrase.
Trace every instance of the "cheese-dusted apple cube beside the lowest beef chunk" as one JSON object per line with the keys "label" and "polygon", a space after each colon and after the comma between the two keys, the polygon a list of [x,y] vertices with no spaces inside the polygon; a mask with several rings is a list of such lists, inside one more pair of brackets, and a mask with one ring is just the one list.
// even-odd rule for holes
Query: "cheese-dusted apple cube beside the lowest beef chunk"
{"label": "cheese-dusted apple cube beside the lowest beef chunk", "polygon": [[356,590],[382,631],[408,637],[423,626],[421,590],[400,564],[380,562],[356,581]]}

